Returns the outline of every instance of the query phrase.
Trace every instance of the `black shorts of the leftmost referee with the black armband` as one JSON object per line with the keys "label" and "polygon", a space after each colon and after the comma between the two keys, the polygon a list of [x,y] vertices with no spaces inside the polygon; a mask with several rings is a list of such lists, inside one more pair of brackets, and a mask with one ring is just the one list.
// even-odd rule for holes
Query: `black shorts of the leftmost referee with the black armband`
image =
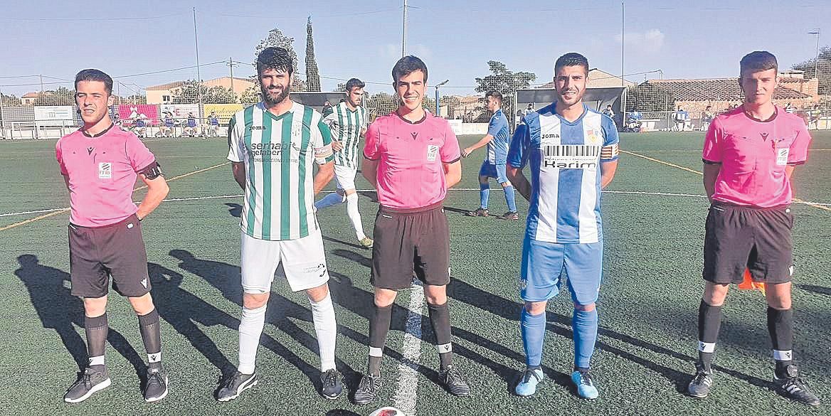
{"label": "black shorts of the leftmost referee with the black armband", "polygon": [[147,252],[135,214],[104,227],[70,223],[69,265],[73,296],[105,296],[110,277],[113,290],[121,296],[150,292]]}

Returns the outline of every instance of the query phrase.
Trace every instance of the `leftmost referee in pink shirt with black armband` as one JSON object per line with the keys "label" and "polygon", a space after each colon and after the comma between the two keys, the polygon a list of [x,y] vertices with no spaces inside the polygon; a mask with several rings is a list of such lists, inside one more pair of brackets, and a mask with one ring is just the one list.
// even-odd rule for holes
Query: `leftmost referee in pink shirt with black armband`
{"label": "leftmost referee in pink shirt with black armband", "polygon": [[[161,364],[159,313],[150,297],[147,253],[140,221],[159,206],[168,192],[155,156],[134,134],[110,120],[112,78],[88,69],[75,77],[75,101],[83,127],[61,137],[57,162],[69,189],[69,264],[72,295],[84,302],[84,327],[89,365],[63,399],[78,403],[110,385],[104,363],[109,325],[107,291],[112,286],[127,296],[139,317],[147,351],[145,400],[167,395],[167,372]],[[138,207],[133,203],[136,176],[147,185]]]}

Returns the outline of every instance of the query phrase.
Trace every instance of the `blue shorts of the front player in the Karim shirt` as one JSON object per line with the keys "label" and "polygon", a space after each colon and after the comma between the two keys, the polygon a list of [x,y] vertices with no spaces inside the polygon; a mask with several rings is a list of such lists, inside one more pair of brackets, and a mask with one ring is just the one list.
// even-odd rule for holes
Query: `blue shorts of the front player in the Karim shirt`
{"label": "blue shorts of the front player in the Karim shirt", "polygon": [[594,303],[602,278],[603,242],[559,244],[526,237],[521,270],[523,301],[548,301],[558,295],[565,280],[575,304]]}

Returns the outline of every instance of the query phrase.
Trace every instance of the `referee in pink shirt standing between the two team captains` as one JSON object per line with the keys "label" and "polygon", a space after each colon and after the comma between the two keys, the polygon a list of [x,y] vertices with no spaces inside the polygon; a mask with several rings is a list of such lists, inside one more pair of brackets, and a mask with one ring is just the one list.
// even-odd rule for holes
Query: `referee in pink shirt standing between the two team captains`
{"label": "referee in pink shirt standing between the two team captains", "polygon": [[396,293],[411,286],[413,273],[424,286],[430,323],[440,358],[440,379],[451,394],[470,394],[453,366],[450,311],[450,230],[442,202],[447,188],[462,176],[459,141],[450,124],[421,106],[427,90],[427,66],[404,56],[392,68],[398,110],[378,117],[366,130],[363,175],[378,192],[372,247],[371,282],[375,286],[369,327],[369,370],[355,392],[367,404],[381,389],[381,357],[390,330]]}

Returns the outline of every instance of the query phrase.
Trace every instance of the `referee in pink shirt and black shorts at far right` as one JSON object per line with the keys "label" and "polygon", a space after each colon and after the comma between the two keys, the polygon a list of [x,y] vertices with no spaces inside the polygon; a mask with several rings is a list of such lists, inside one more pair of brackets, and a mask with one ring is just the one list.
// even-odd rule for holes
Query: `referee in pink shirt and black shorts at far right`
{"label": "referee in pink shirt and black shorts at far right", "polygon": [[704,239],[706,287],[698,311],[696,375],[688,392],[696,398],[710,393],[721,307],[730,283],[740,283],[746,268],[753,281],[766,286],[776,389],[784,397],[816,406],[819,398],[800,379],[793,362],[790,297],[791,174],[808,159],[811,136],[799,116],[772,102],[777,71],[776,57],[770,52],[745,55],[739,78],[745,102],[716,116],[704,140],[704,188],[711,200]]}

